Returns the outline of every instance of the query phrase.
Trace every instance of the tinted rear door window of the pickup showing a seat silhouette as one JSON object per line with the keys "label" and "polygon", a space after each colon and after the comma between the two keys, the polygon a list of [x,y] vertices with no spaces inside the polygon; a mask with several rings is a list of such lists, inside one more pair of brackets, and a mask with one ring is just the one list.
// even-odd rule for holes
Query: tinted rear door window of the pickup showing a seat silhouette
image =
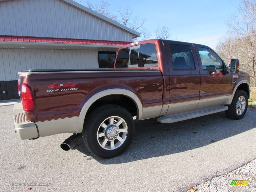
{"label": "tinted rear door window of the pickup showing a seat silhouette", "polygon": [[170,44],[174,70],[195,70],[191,49],[187,45]]}

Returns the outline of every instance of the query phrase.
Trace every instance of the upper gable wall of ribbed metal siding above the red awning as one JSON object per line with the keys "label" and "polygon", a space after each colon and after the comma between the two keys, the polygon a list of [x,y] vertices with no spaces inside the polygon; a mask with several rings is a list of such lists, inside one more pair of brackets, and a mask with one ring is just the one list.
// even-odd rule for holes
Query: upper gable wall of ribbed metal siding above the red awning
{"label": "upper gable wall of ribbed metal siding above the red awning", "polygon": [[0,35],[132,41],[132,35],[58,0],[0,3]]}

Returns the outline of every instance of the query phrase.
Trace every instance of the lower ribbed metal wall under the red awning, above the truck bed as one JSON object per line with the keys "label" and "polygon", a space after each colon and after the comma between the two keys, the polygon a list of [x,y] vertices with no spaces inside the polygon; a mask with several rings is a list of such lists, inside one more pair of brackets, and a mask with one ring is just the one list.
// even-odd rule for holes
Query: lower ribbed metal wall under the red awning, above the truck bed
{"label": "lower ribbed metal wall under the red awning, above the truck bed", "polygon": [[17,80],[28,69],[99,68],[97,51],[0,49],[0,81]]}

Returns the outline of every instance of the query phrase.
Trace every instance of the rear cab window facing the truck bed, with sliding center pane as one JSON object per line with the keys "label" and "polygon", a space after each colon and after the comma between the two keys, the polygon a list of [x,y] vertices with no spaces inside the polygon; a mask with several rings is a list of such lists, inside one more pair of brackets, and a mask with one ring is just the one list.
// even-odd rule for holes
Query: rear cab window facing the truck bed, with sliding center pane
{"label": "rear cab window facing the truck bed, with sliding center pane", "polygon": [[116,68],[157,67],[157,54],[154,44],[144,44],[121,49],[116,58]]}

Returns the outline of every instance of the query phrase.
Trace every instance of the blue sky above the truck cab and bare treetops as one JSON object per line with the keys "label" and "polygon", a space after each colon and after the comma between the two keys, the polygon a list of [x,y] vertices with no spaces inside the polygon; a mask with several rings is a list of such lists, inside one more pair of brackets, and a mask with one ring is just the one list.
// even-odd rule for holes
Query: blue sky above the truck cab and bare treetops
{"label": "blue sky above the truck cab and bare treetops", "polygon": [[[169,28],[173,38],[216,47],[219,38],[226,34],[226,22],[237,11],[239,0],[147,0],[114,1],[106,0],[109,12],[118,16],[118,6],[130,6],[133,16],[146,18],[144,27],[155,38],[158,26]],[[91,1],[94,2],[94,1]],[[100,3],[100,1],[97,1]],[[87,6],[86,1],[80,2]]]}

